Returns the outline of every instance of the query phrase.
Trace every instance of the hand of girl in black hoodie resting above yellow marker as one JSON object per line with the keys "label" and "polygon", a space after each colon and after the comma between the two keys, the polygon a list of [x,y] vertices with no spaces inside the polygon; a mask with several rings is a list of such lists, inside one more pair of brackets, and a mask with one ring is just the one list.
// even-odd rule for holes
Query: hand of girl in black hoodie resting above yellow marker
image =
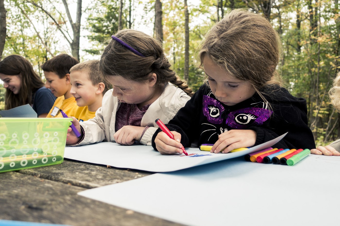
{"label": "hand of girl in black hoodie resting above yellow marker", "polygon": [[212,146],[210,152],[228,153],[229,151],[241,148],[241,147],[252,147],[256,142],[256,132],[251,129],[232,129],[223,132],[218,136],[218,140]]}

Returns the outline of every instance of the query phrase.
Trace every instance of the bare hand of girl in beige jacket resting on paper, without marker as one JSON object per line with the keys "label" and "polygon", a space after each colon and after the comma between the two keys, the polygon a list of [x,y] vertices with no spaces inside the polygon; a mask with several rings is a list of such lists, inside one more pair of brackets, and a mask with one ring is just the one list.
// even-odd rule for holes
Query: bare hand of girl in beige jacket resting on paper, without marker
{"label": "bare hand of girl in beige jacket resting on paper, without marker", "polygon": [[118,144],[132,145],[135,143],[135,140],[140,140],[144,129],[145,127],[140,126],[123,126],[113,137]]}

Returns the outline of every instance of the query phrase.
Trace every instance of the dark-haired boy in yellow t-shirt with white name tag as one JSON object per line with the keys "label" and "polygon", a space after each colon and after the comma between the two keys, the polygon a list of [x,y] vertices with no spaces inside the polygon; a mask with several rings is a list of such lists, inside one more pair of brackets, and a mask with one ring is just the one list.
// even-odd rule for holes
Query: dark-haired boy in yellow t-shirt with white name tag
{"label": "dark-haired boy in yellow t-shirt with white name tag", "polygon": [[52,94],[57,97],[46,118],[63,117],[59,109],[68,116],[78,118],[77,116],[83,110],[78,107],[75,98],[70,94],[70,68],[78,63],[77,59],[67,54],[60,54],[41,65],[46,78],[45,86],[51,89]]}

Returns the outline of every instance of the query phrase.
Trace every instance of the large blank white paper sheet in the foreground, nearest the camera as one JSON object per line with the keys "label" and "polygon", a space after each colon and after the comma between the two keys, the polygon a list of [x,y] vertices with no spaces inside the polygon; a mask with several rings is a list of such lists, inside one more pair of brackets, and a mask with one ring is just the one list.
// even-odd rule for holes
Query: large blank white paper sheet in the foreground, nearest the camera
{"label": "large blank white paper sheet in the foreground, nearest the camera", "polygon": [[316,155],[294,166],[240,157],[78,194],[185,225],[338,226],[339,164]]}

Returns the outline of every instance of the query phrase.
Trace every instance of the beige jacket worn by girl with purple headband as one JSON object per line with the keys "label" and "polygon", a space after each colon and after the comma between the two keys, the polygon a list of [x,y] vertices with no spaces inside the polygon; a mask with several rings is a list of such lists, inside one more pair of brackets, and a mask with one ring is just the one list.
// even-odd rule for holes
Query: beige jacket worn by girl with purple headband
{"label": "beige jacket worn by girl with purple headband", "polygon": [[[149,106],[141,120],[140,126],[149,126],[149,128],[139,142],[151,145],[152,135],[158,128],[155,120],[159,118],[163,123],[168,123],[189,99],[190,97],[182,89],[171,83],[166,84],[162,95]],[[102,107],[96,111],[96,116],[80,122],[84,130],[84,138],[77,145],[102,141],[114,142],[116,112],[119,106],[117,97],[112,96],[112,89],[108,90],[103,97]]]}

